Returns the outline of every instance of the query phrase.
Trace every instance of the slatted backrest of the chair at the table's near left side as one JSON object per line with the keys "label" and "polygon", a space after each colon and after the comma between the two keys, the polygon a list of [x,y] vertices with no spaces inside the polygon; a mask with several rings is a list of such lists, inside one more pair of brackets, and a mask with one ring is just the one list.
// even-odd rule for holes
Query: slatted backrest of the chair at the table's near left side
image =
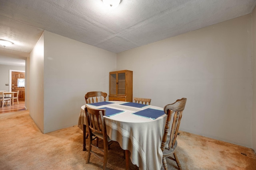
{"label": "slatted backrest of the chair at the table's near left side", "polygon": [[[104,121],[105,109],[93,109],[88,106],[84,108],[88,122],[89,133],[100,133],[107,139],[106,126]],[[105,138],[106,137],[106,138]]]}

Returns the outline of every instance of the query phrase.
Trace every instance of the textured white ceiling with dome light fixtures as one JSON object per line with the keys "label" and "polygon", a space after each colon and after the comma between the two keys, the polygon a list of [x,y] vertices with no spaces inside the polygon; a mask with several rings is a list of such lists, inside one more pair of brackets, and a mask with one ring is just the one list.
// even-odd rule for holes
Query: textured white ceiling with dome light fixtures
{"label": "textured white ceiling with dome light fixtures", "polygon": [[111,11],[102,0],[0,0],[0,39],[14,43],[0,47],[0,58],[28,57],[44,30],[119,53],[250,14],[255,6],[256,0],[122,0]]}

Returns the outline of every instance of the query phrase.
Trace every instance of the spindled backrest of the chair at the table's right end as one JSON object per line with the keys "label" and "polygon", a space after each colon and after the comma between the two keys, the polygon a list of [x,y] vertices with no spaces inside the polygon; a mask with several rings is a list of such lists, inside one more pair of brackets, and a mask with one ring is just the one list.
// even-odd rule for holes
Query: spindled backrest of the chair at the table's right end
{"label": "spindled backrest of the chair at the table's right end", "polygon": [[[164,112],[167,114],[167,118],[166,118],[166,123],[165,123],[165,127],[164,127],[164,135],[162,138],[162,145],[161,145],[162,151],[164,149],[170,150],[170,149],[172,149],[172,147],[174,147],[174,144],[176,142],[176,137],[178,134],[178,130],[180,127],[182,111],[185,108],[186,101],[187,101],[186,98],[182,98],[182,99],[176,100],[176,102],[174,102],[173,104],[168,104],[164,107]],[[172,116],[172,113],[174,113],[173,116]],[[170,121],[171,121],[172,117],[173,117],[173,122],[172,122],[171,131],[170,131],[170,138],[168,139],[168,131],[170,128]]]}

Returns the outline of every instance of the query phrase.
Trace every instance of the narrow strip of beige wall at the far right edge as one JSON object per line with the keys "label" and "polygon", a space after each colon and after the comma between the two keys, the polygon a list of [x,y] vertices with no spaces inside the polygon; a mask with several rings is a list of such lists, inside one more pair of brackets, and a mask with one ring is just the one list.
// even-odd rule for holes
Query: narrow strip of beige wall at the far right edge
{"label": "narrow strip of beige wall at the far right edge", "polygon": [[252,149],[256,151],[256,8],[252,12],[252,67],[253,67],[253,107],[252,107]]}

